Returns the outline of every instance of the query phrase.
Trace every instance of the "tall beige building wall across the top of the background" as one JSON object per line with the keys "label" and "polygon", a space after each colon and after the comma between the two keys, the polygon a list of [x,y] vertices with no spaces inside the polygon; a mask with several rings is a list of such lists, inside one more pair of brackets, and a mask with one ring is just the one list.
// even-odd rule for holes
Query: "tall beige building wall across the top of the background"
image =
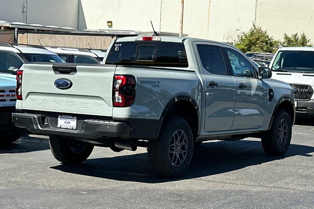
{"label": "tall beige building wall across the top of the background", "polygon": [[[27,3],[27,6],[26,6]],[[252,23],[275,39],[302,33],[314,42],[314,0],[185,0],[183,33],[232,42]],[[23,7],[26,6],[26,12]],[[179,33],[181,0],[0,0],[0,20],[78,29]],[[112,21],[112,27],[107,26]]]}

